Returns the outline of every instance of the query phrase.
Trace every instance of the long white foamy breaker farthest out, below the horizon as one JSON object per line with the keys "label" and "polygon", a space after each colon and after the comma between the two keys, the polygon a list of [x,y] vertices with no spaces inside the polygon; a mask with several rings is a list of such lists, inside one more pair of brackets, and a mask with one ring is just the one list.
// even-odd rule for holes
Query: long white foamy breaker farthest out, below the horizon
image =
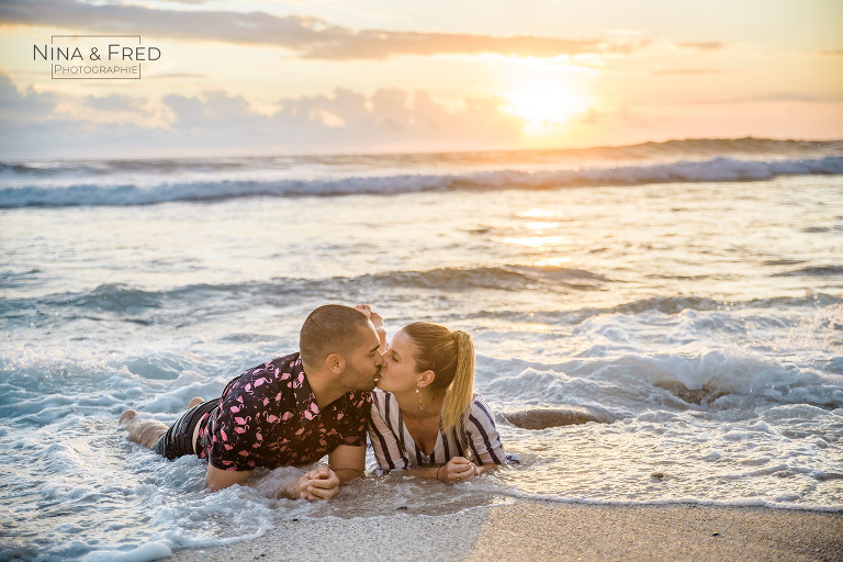
{"label": "long white foamy breaker farthest out, below the horizon", "polygon": [[[0,207],[148,205],[168,201],[212,201],[241,196],[336,196],[396,194],[420,191],[559,189],[582,186],[640,186],[675,182],[761,181],[778,176],[841,175],[843,157],[794,160],[739,160],[713,158],[644,166],[605,165],[553,171],[494,170],[470,173],[413,173],[319,179],[243,180],[209,179],[181,183],[99,184],[63,187],[23,184],[0,189]],[[93,180],[93,178],[91,178]],[[29,180],[32,181],[32,180]],[[76,180],[79,181],[79,180]],[[85,180],[82,180],[85,181]],[[113,181],[110,180],[110,181]],[[160,180],[159,180],[160,181]],[[164,180],[168,181],[168,180]]]}

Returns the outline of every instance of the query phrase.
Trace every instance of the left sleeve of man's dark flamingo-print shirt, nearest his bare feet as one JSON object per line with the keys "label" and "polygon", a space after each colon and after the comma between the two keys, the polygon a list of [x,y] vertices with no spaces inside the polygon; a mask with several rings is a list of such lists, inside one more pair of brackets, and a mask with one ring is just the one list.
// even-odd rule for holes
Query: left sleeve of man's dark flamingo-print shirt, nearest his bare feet
{"label": "left sleeve of man's dark flamingo-print shirt, nearest his bare feet", "polygon": [[[245,379],[245,380],[244,380]],[[221,470],[252,470],[258,467],[265,436],[266,409],[256,387],[266,380],[241,376],[231,385],[210,426],[207,462]]]}

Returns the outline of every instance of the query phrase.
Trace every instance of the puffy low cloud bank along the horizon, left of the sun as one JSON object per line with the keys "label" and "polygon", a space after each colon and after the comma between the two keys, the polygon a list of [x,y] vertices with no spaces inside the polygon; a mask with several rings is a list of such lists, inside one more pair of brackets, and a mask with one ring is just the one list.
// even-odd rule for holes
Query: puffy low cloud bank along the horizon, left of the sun
{"label": "puffy low cloud bank along the horizon, left of the sun", "polygon": [[207,91],[143,98],[54,97],[21,92],[0,75],[0,154],[4,158],[157,157],[502,148],[524,121],[498,98],[449,109],[426,91],[277,100],[261,114],[241,95]]}

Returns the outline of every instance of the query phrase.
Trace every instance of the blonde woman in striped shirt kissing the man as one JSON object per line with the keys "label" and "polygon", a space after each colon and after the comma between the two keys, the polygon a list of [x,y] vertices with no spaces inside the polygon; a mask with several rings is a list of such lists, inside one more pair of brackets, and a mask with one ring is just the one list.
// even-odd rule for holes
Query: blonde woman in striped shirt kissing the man
{"label": "blonde woman in striped shirt kissing the man", "polygon": [[[372,321],[380,317],[372,313]],[[383,355],[369,438],[381,470],[442,482],[516,461],[504,454],[494,416],[474,393],[471,336],[426,322],[398,330]]]}

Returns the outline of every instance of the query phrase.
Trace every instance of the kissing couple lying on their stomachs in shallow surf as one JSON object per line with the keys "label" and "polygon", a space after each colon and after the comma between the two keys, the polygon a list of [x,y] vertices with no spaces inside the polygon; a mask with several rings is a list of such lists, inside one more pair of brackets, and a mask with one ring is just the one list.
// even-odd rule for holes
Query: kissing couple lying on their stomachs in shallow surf
{"label": "kissing couple lying on their stomachs in shallow surf", "polygon": [[368,305],[328,304],[304,321],[299,348],[235,378],[218,398],[191,400],[170,427],[134,409],[120,424],[167,459],[207,460],[212,491],[250,483],[256,469],[310,467],[327,454],[327,467],[274,491],[293,499],[329,499],[363,476],[367,434],[384,472],[456,483],[513,460],[474,393],[465,331],[416,322],[387,342]]}

